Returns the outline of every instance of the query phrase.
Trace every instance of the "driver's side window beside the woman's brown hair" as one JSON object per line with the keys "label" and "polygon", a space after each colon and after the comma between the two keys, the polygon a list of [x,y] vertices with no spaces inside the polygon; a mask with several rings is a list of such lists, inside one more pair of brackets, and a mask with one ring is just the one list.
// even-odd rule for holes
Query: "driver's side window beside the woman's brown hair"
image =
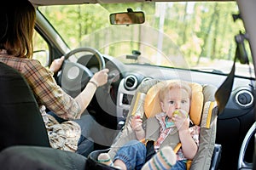
{"label": "driver's side window beside the woman's brown hair", "polygon": [[42,65],[49,65],[49,46],[41,35],[34,31],[33,37],[34,53],[32,59],[38,59]]}

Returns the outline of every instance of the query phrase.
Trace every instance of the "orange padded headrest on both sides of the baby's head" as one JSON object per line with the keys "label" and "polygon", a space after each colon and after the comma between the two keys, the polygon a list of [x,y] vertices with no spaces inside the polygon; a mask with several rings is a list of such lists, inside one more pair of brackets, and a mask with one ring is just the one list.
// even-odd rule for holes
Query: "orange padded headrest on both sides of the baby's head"
{"label": "orange padded headrest on both sides of the baby's head", "polygon": [[[144,112],[147,118],[161,112],[160,99],[158,95],[160,88],[162,88],[166,83],[173,81],[179,82],[179,80],[167,80],[158,82],[153,87],[149,88],[144,101]],[[192,122],[194,122],[196,125],[200,125],[204,100],[202,86],[195,82],[188,83],[192,89],[189,116]]]}

